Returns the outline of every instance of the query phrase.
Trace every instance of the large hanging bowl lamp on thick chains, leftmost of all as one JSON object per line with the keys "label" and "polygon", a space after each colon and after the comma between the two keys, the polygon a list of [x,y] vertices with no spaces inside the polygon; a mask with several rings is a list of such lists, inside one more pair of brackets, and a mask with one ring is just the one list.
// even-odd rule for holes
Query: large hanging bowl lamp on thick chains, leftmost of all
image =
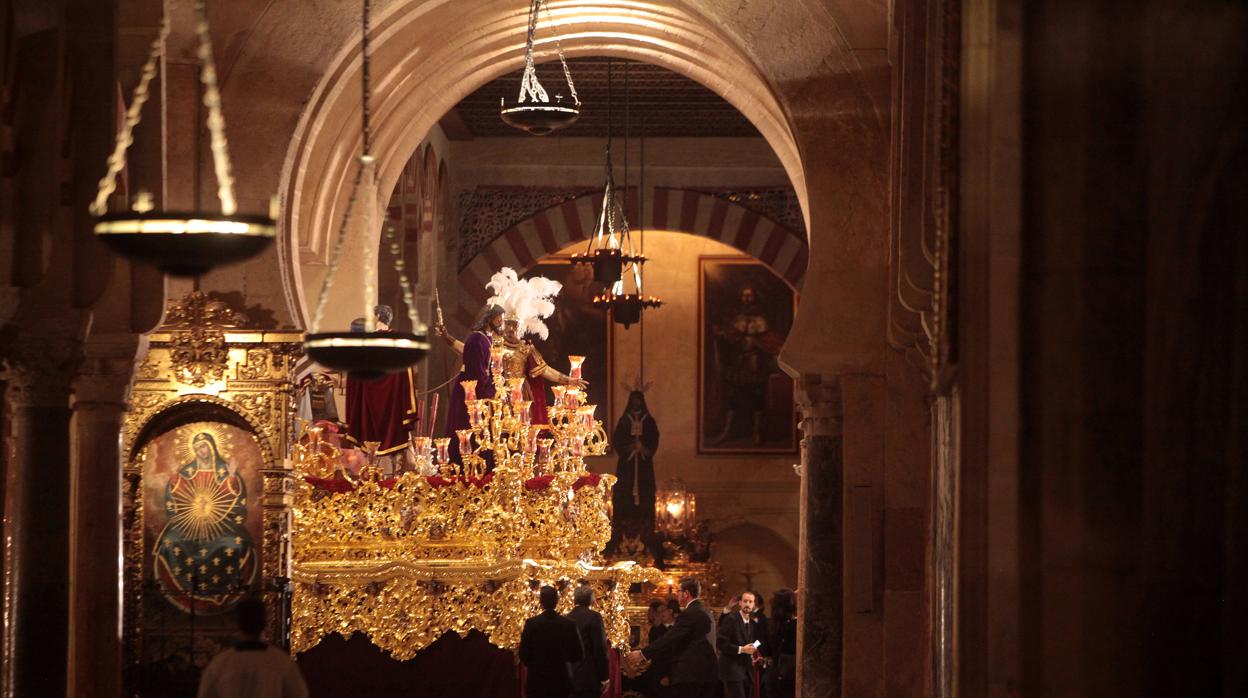
{"label": "large hanging bowl lamp on thick chains, leftmost of all", "polygon": [[217,70],[212,60],[212,37],[203,0],[195,2],[196,34],[198,35],[200,82],[203,105],[208,107],[207,126],[212,150],[212,166],[217,179],[217,200],[221,211],[157,210],[152,195],[139,190],[129,211],[109,212],[109,199],[117,189],[117,175],[126,166],[126,151],[134,144],[157,62],[168,37],[168,15],[161,19],[160,34],[152,41],[147,61],[117,131],[107,172],[90,211],[96,216],[95,235],[114,252],[136,262],[150,263],[172,276],[198,276],[213,267],[253,257],[277,236],[273,221],[275,205],[268,214],[238,214],[231,174],[226,121],[221,112]]}

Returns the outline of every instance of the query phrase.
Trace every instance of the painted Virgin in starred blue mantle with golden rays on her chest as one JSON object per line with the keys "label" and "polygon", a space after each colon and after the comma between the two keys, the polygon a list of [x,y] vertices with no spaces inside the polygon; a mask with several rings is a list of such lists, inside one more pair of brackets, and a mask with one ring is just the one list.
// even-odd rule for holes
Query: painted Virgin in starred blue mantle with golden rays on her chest
{"label": "painted Virgin in starred blue mantle with golden rays on her chest", "polygon": [[211,433],[195,435],[191,452],[191,461],[165,487],[165,527],[152,551],[155,576],[177,608],[220,613],[256,576],[247,488]]}

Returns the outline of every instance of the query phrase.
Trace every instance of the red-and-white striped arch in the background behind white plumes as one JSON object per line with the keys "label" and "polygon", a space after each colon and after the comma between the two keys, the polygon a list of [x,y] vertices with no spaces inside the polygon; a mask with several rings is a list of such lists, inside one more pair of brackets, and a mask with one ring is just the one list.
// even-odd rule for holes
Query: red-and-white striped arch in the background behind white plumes
{"label": "red-and-white striped arch in the background behind white plumes", "polygon": [[[635,197],[629,197],[630,204]],[[587,240],[598,224],[603,194],[587,192],[540,210],[485,241],[459,268],[459,307],[456,318],[469,323],[489,296],[485,282],[500,267],[527,270],[538,260]],[[806,273],[806,236],[726,196],[676,187],[646,191],[648,230],[670,230],[710,237],[768,265],[794,288]],[[629,220],[636,221],[630,205]],[[635,224],[634,224],[635,225]]]}

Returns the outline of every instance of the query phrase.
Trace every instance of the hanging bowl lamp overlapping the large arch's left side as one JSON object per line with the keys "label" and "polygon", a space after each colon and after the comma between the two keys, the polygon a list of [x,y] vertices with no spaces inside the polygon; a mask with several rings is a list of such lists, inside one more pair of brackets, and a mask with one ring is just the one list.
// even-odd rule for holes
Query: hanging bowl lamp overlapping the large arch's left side
{"label": "hanging bowl lamp overlapping the large arch's left side", "polygon": [[372,155],[372,129],[371,129],[371,67],[372,56],[369,54],[369,9],[371,0],[363,0],[362,11],[362,40],[361,40],[361,140],[363,150],[359,156],[359,169],[352,184],[351,197],[347,200],[347,209],[342,216],[342,225],[338,227],[338,236],[329,256],[328,273],[321,285],[321,296],[317,300],[316,313],[312,318],[312,331],[303,338],[303,350],[310,358],[336,371],[346,371],[357,380],[379,378],[386,373],[402,371],[424,357],[429,351],[428,328],[421,322],[416,310],[416,296],[412,283],[407,277],[406,263],[402,258],[402,246],[394,235],[394,226],[387,222],[383,226],[386,245],[394,258],[394,271],[398,272],[399,283],[403,288],[403,303],[407,306],[407,316],[412,323],[411,332],[399,332],[389,328],[377,327],[377,273],[373,267],[373,255],[364,255],[364,326],[362,332],[321,332],[321,320],[324,316],[326,301],[333,286],[334,275],[338,270],[338,258],[346,246],[348,227],[352,222],[352,211],[359,206],[358,230],[366,236],[376,230],[378,215],[377,200],[377,159]]}

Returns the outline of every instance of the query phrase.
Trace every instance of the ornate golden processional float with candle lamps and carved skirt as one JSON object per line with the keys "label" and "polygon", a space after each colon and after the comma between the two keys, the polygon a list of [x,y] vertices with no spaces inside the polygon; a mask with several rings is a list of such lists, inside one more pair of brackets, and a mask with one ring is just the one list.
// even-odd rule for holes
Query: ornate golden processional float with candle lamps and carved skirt
{"label": "ornate golden processional float with candle lamps and carved skirt", "polygon": [[[502,352],[490,352],[495,397],[477,398],[475,381],[464,382],[462,465],[448,457],[449,438],[417,436],[412,471],[384,478],[371,456],[353,477],[319,427],[303,430],[292,451],[293,653],[359,632],[402,661],[472,629],[513,649],[540,612],[537,588],[560,588],[569,611],[578,583],[594,587],[612,644],[628,646],[629,587],[661,574],[600,564],[615,477],[589,473],[584,458],[607,451],[603,425],[584,391],[564,386],[550,425],[532,425],[523,378],[504,378]],[[579,378],[580,357],[570,360]]]}

